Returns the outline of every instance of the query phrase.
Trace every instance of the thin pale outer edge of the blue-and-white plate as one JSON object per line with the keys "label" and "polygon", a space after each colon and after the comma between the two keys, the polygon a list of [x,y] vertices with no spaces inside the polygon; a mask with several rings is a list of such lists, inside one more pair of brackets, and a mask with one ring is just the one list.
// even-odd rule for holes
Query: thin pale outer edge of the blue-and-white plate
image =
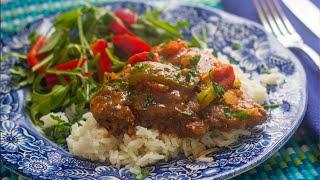
{"label": "thin pale outer edge of the blue-and-white plate", "polygon": [[[118,1],[108,1],[108,2],[102,2],[100,4],[97,4],[96,6],[97,7],[103,7],[103,6],[106,6],[108,4],[112,4],[112,3],[125,3],[125,2],[129,2],[129,3],[141,3],[141,4],[146,4],[146,5],[150,5],[150,6],[153,6],[153,7],[157,7],[159,4],[161,3],[164,3],[164,2],[157,2],[157,1],[154,1],[154,2],[143,2],[143,1],[130,1],[130,0],[118,0]],[[266,150],[265,152],[261,153],[258,157],[259,158],[255,158],[254,160],[251,160],[250,162],[248,162],[247,164],[245,165],[242,165],[240,167],[237,167],[235,169],[232,169],[232,170],[229,170],[229,171],[226,171],[226,172],[223,172],[223,173],[219,173],[217,175],[214,175],[214,176],[211,176],[211,177],[208,177],[208,178],[216,178],[216,179],[230,179],[230,178],[233,178],[237,175],[240,175],[244,172],[247,172],[249,171],[250,169],[253,169],[255,167],[257,167],[258,165],[262,164],[264,161],[266,161],[268,158],[270,158],[274,153],[276,153],[281,147],[283,147],[283,145],[293,136],[293,134],[297,131],[297,129],[300,127],[301,125],[301,122],[305,116],[305,113],[306,113],[306,110],[307,110],[307,104],[308,104],[308,91],[307,91],[307,78],[306,78],[306,72],[305,72],[305,69],[304,67],[302,66],[302,63],[300,62],[300,59],[297,58],[297,56],[292,53],[288,48],[284,47],[276,38],[273,34],[269,33],[269,32],[266,32],[266,30],[264,29],[264,27],[255,22],[255,21],[252,21],[250,19],[247,19],[247,18],[244,18],[244,17],[241,17],[241,16],[238,16],[238,15],[235,15],[235,14],[232,14],[230,12],[226,12],[224,11],[223,9],[217,9],[217,8],[213,8],[213,7],[207,7],[207,6],[204,6],[204,5],[198,5],[198,4],[193,4],[193,3],[186,3],[186,2],[175,2],[175,5],[179,5],[179,6],[187,6],[187,7],[190,7],[190,8],[200,8],[200,9],[204,9],[204,10],[207,10],[207,11],[210,11],[210,12],[213,12],[215,14],[218,14],[218,15],[221,15],[221,18],[222,19],[230,19],[231,18],[235,18],[235,19],[239,19],[241,20],[241,22],[239,22],[239,24],[243,24],[243,23],[247,23],[247,24],[250,24],[250,25],[254,25],[256,27],[258,27],[260,30],[262,30],[266,36],[268,37],[268,39],[271,37],[272,39],[274,39],[275,41],[277,41],[277,43],[279,45],[282,46],[283,50],[285,50],[289,55],[290,57],[293,57],[293,58],[290,58],[290,61],[291,62],[294,62],[295,65],[298,65],[300,66],[301,68],[301,71],[303,72],[300,76],[303,76],[302,78],[304,79],[304,82],[303,82],[303,85],[304,85],[304,88],[302,87],[301,88],[301,91],[302,91],[302,102],[303,102],[303,106],[299,107],[298,111],[297,111],[297,116],[296,116],[296,120],[294,121],[295,122],[295,125],[292,126],[292,128],[290,130],[288,130],[288,133],[287,134],[284,134],[282,136],[282,138],[280,138],[279,140],[276,141],[276,143],[270,147],[269,150]],[[58,12],[58,13],[53,13],[51,15],[40,15],[39,17],[37,17],[36,19],[34,19],[33,21],[31,22],[28,22],[21,30],[19,31],[15,31],[13,32],[12,34],[9,34],[7,37],[5,37],[4,39],[1,39],[1,41],[5,41],[5,40],[9,40],[9,39],[12,39],[14,36],[16,35],[19,35],[23,32],[23,30],[28,27],[28,26],[31,26],[32,24],[35,24],[37,23],[38,21],[41,21],[42,19],[44,18],[52,18],[58,14],[61,14],[63,12]],[[226,16],[228,16],[229,18],[226,18]],[[234,22],[233,22],[234,23]],[[268,40],[268,42],[270,43],[270,41]],[[20,88],[19,90],[21,90],[22,88]],[[24,113],[26,114],[26,113]],[[43,136],[44,137],[44,136]],[[46,137],[44,137],[46,140],[48,140]],[[50,141],[51,142],[51,141]],[[60,147],[60,146],[58,146]],[[70,152],[68,152],[70,153]],[[71,154],[71,153],[70,153]],[[2,159],[1,159],[2,160]],[[20,173],[18,172],[16,169],[12,169],[10,167],[7,167],[3,164],[3,166],[9,170],[11,170],[12,172],[16,173],[16,174],[19,174],[19,175],[22,175],[24,177],[33,177],[33,176],[26,176],[25,174],[23,173]]]}

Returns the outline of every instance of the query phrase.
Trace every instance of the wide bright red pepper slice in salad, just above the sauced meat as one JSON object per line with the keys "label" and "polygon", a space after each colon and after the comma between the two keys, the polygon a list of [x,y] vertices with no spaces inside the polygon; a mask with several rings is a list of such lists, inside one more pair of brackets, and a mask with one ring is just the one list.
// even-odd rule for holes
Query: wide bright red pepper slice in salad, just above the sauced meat
{"label": "wide bright red pepper slice in salad, just above the sauced meat", "polygon": [[132,56],[137,53],[144,51],[150,52],[151,46],[144,42],[142,39],[136,36],[124,35],[114,35],[112,37],[113,44],[125,52],[127,55]]}

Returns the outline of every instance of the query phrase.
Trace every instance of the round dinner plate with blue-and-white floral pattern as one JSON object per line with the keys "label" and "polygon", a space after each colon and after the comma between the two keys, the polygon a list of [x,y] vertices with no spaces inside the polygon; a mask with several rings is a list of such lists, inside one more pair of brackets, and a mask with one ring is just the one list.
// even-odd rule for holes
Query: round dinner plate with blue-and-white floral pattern
{"label": "round dinner plate with blue-and-white floral pattern", "polygon": [[[139,14],[159,3],[113,2],[107,9],[128,7]],[[183,30],[186,39],[191,33],[207,33],[208,45],[255,79],[265,68],[277,68],[285,76],[283,83],[268,86],[270,102],[280,107],[268,110],[268,121],[250,129],[250,135],[212,155],[214,162],[195,162],[179,157],[150,166],[147,179],[225,179],[245,172],[275,153],[296,131],[306,109],[306,75],[295,56],[261,26],[223,11],[205,7],[170,4],[162,17],[169,21],[187,20]],[[26,52],[27,36],[41,31],[54,17],[42,18],[24,30],[1,41],[1,54]],[[25,66],[11,58],[0,67],[1,162],[26,177],[41,179],[134,179],[128,169],[117,169],[73,156],[41,135],[32,125],[25,104],[28,88],[17,89],[10,74],[13,65]]]}

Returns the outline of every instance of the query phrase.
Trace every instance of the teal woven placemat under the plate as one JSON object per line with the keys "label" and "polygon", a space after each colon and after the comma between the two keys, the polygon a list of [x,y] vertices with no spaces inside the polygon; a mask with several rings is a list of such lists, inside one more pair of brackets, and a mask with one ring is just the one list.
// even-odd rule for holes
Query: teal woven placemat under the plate
{"label": "teal woven placemat under the plate", "polygon": [[[88,0],[100,4],[103,0]],[[215,8],[221,8],[219,0],[186,0],[201,2]],[[1,0],[1,39],[19,31],[27,23],[43,16],[61,12],[80,4],[72,0]],[[1,166],[0,178],[18,179]],[[320,144],[313,141],[305,127],[297,133],[271,158],[235,179],[320,179]]]}

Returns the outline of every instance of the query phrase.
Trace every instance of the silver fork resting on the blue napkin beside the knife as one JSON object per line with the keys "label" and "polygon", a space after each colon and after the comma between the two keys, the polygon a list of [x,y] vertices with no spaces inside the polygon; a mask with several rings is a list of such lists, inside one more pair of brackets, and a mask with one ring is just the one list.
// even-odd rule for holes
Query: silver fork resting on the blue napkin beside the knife
{"label": "silver fork resting on the blue napkin beside the knife", "polygon": [[253,0],[253,2],[266,31],[273,33],[283,46],[303,50],[320,69],[319,54],[303,42],[284,14],[278,1]]}

